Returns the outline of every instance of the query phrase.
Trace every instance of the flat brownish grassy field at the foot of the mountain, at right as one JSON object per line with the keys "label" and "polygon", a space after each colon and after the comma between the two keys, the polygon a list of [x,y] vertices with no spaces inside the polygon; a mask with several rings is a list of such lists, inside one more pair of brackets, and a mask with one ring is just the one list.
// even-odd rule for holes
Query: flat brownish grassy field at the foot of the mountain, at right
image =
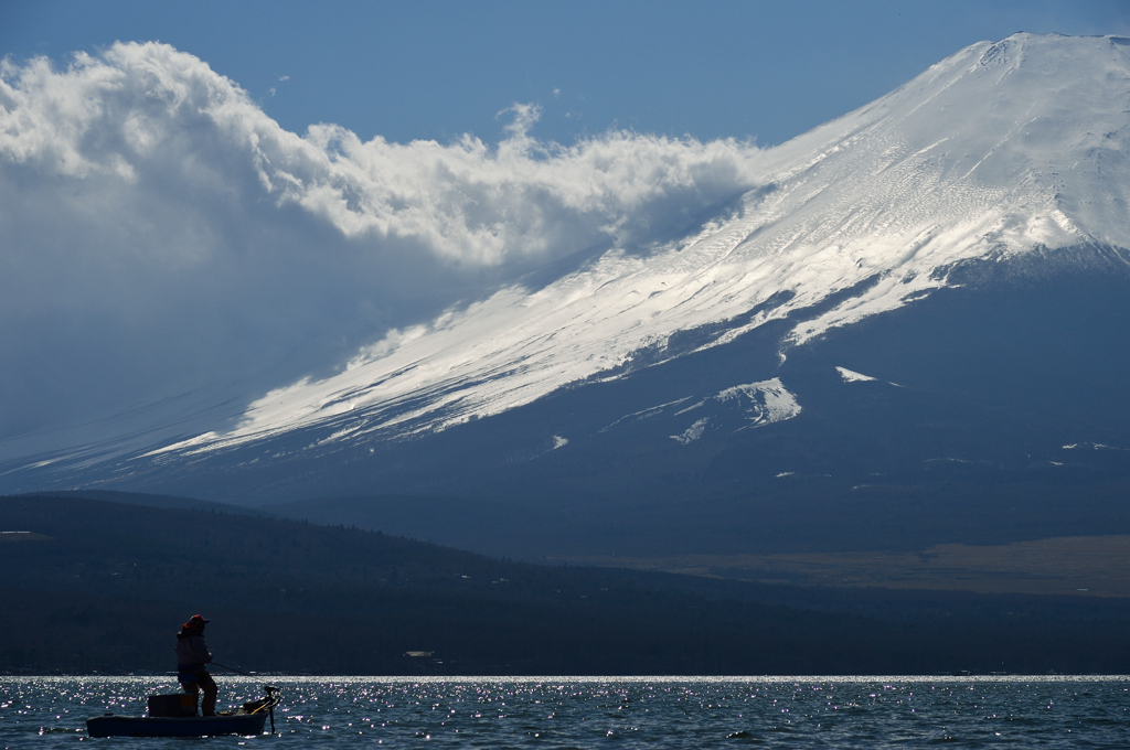
{"label": "flat brownish grassy field at the foot of the mountain, at right", "polygon": [[570,557],[570,564],[762,583],[1130,598],[1130,535],[1058,537],[921,552]]}

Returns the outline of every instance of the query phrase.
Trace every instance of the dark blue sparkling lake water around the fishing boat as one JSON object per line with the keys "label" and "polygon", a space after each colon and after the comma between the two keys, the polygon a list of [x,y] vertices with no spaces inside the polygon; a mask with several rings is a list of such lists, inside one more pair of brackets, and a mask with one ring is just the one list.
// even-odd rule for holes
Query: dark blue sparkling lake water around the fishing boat
{"label": "dark blue sparkling lake water around the fishing boat", "polygon": [[[260,696],[218,680],[220,707]],[[0,748],[1128,748],[1130,678],[272,678],[276,735],[92,739],[167,678],[0,678]]]}

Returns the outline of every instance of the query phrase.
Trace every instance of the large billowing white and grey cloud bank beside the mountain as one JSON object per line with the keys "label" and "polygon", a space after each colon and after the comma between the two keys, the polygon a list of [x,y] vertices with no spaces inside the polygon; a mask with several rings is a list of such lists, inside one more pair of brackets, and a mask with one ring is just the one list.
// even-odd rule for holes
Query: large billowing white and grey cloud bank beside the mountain
{"label": "large billowing white and grey cloud bank beside the mountain", "polygon": [[5,60],[0,443],[174,401],[238,413],[555,261],[646,250],[760,163],[732,140],[547,143],[536,106],[504,116],[496,145],[299,136],[168,45]]}

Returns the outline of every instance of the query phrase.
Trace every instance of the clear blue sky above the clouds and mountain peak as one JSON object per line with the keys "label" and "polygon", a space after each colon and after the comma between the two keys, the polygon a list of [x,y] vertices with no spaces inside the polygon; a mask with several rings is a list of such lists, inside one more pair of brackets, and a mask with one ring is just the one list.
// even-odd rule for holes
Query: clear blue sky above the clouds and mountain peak
{"label": "clear blue sky above the clouds and mountain peak", "polygon": [[1130,2],[0,0],[16,60],[159,40],[288,130],[401,142],[495,141],[518,102],[540,104],[536,134],[559,142],[627,128],[773,145],[1018,30],[1130,34]]}

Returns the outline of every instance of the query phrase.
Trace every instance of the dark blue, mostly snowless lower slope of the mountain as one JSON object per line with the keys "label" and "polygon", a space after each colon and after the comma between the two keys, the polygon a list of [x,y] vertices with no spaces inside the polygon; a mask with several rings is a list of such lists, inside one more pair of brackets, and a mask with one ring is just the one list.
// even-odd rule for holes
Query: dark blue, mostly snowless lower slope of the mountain
{"label": "dark blue, mostly snowless lower slope of the mountain", "polygon": [[[346,522],[417,534],[432,506],[411,497],[462,498],[447,543],[533,557],[1130,532],[1130,273],[1001,276],[833,329],[784,363],[791,320],[416,439],[319,443],[315,426],[53,480],[242,505],[397,495],[407,526]],[[776,383],[791,408],[755,427],[765,396],[785,395]],[[751,399],[720,398],[741,384]],[[1064,447],[1083,444],[1119,450]]]}

